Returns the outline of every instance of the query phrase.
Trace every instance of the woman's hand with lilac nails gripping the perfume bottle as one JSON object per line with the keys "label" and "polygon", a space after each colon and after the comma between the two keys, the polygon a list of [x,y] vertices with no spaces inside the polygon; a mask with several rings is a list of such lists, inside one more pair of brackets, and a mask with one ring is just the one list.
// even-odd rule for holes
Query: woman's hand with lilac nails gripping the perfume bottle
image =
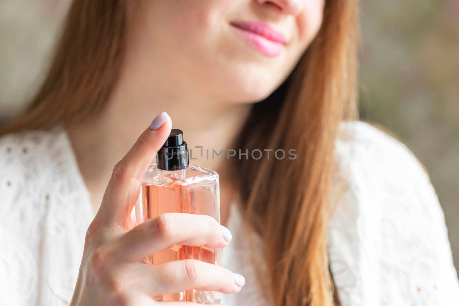
{"label": "woman's hand with lilac nails gripping the perfume bottle", "polygon": [[86,234],[72,306],[195,305],[155,297],[190,289],[223,293],[241,289],[243,278],[217,265],[191,259],[154,265],[145,261],[176,244],[218,248],[230,240],[226,228],[204,215],[167,213],[134,227],[130,212],[139,195],[140,179],[171,126],[167,113],[161,113],[114,167]]}

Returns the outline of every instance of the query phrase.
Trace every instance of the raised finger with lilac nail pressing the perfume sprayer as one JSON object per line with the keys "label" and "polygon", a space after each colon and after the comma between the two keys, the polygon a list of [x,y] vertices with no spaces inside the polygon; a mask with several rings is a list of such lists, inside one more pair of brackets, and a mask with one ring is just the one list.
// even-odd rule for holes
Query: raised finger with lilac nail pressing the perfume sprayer
{"label": "raised finger with lilac nail pressing the perfume sprayer", "polygon": [[140,181],[172,128],[168,113],[159,114],[115,165],[98,212],[106,224],[125,223],[139,196]]}

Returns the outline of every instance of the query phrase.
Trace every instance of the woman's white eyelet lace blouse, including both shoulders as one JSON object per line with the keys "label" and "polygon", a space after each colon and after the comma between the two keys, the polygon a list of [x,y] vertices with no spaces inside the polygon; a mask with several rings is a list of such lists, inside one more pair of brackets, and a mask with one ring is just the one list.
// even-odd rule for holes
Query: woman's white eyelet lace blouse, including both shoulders
{"label": "woman's white eyelet lace blouse, including both shoulders", "polygon": [[[409,149],[365,122],[336,140],[329,257],[343,306],[457,306],[442,209]],[[68,305],[94,217],[66,131],[0,138],[0,305]],[[223,265],[246,277],[224,304],[266,306],[233,205]]]}

